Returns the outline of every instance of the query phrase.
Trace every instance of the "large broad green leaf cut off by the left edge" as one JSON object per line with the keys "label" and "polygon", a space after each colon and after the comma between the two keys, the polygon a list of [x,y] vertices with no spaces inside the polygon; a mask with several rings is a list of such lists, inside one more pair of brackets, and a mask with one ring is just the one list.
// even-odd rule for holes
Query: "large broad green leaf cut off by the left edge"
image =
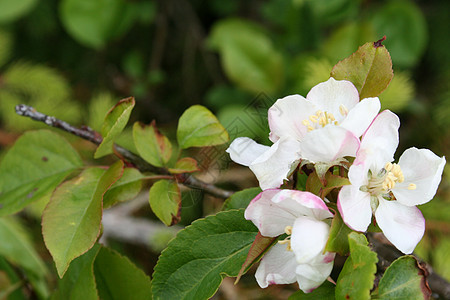
{"label": "large broad green leaf cut off by the left edge", "polygon": [[58,134],[24,133],[0,165],[0,216],[39,200],[82,165],[75,149]]}

